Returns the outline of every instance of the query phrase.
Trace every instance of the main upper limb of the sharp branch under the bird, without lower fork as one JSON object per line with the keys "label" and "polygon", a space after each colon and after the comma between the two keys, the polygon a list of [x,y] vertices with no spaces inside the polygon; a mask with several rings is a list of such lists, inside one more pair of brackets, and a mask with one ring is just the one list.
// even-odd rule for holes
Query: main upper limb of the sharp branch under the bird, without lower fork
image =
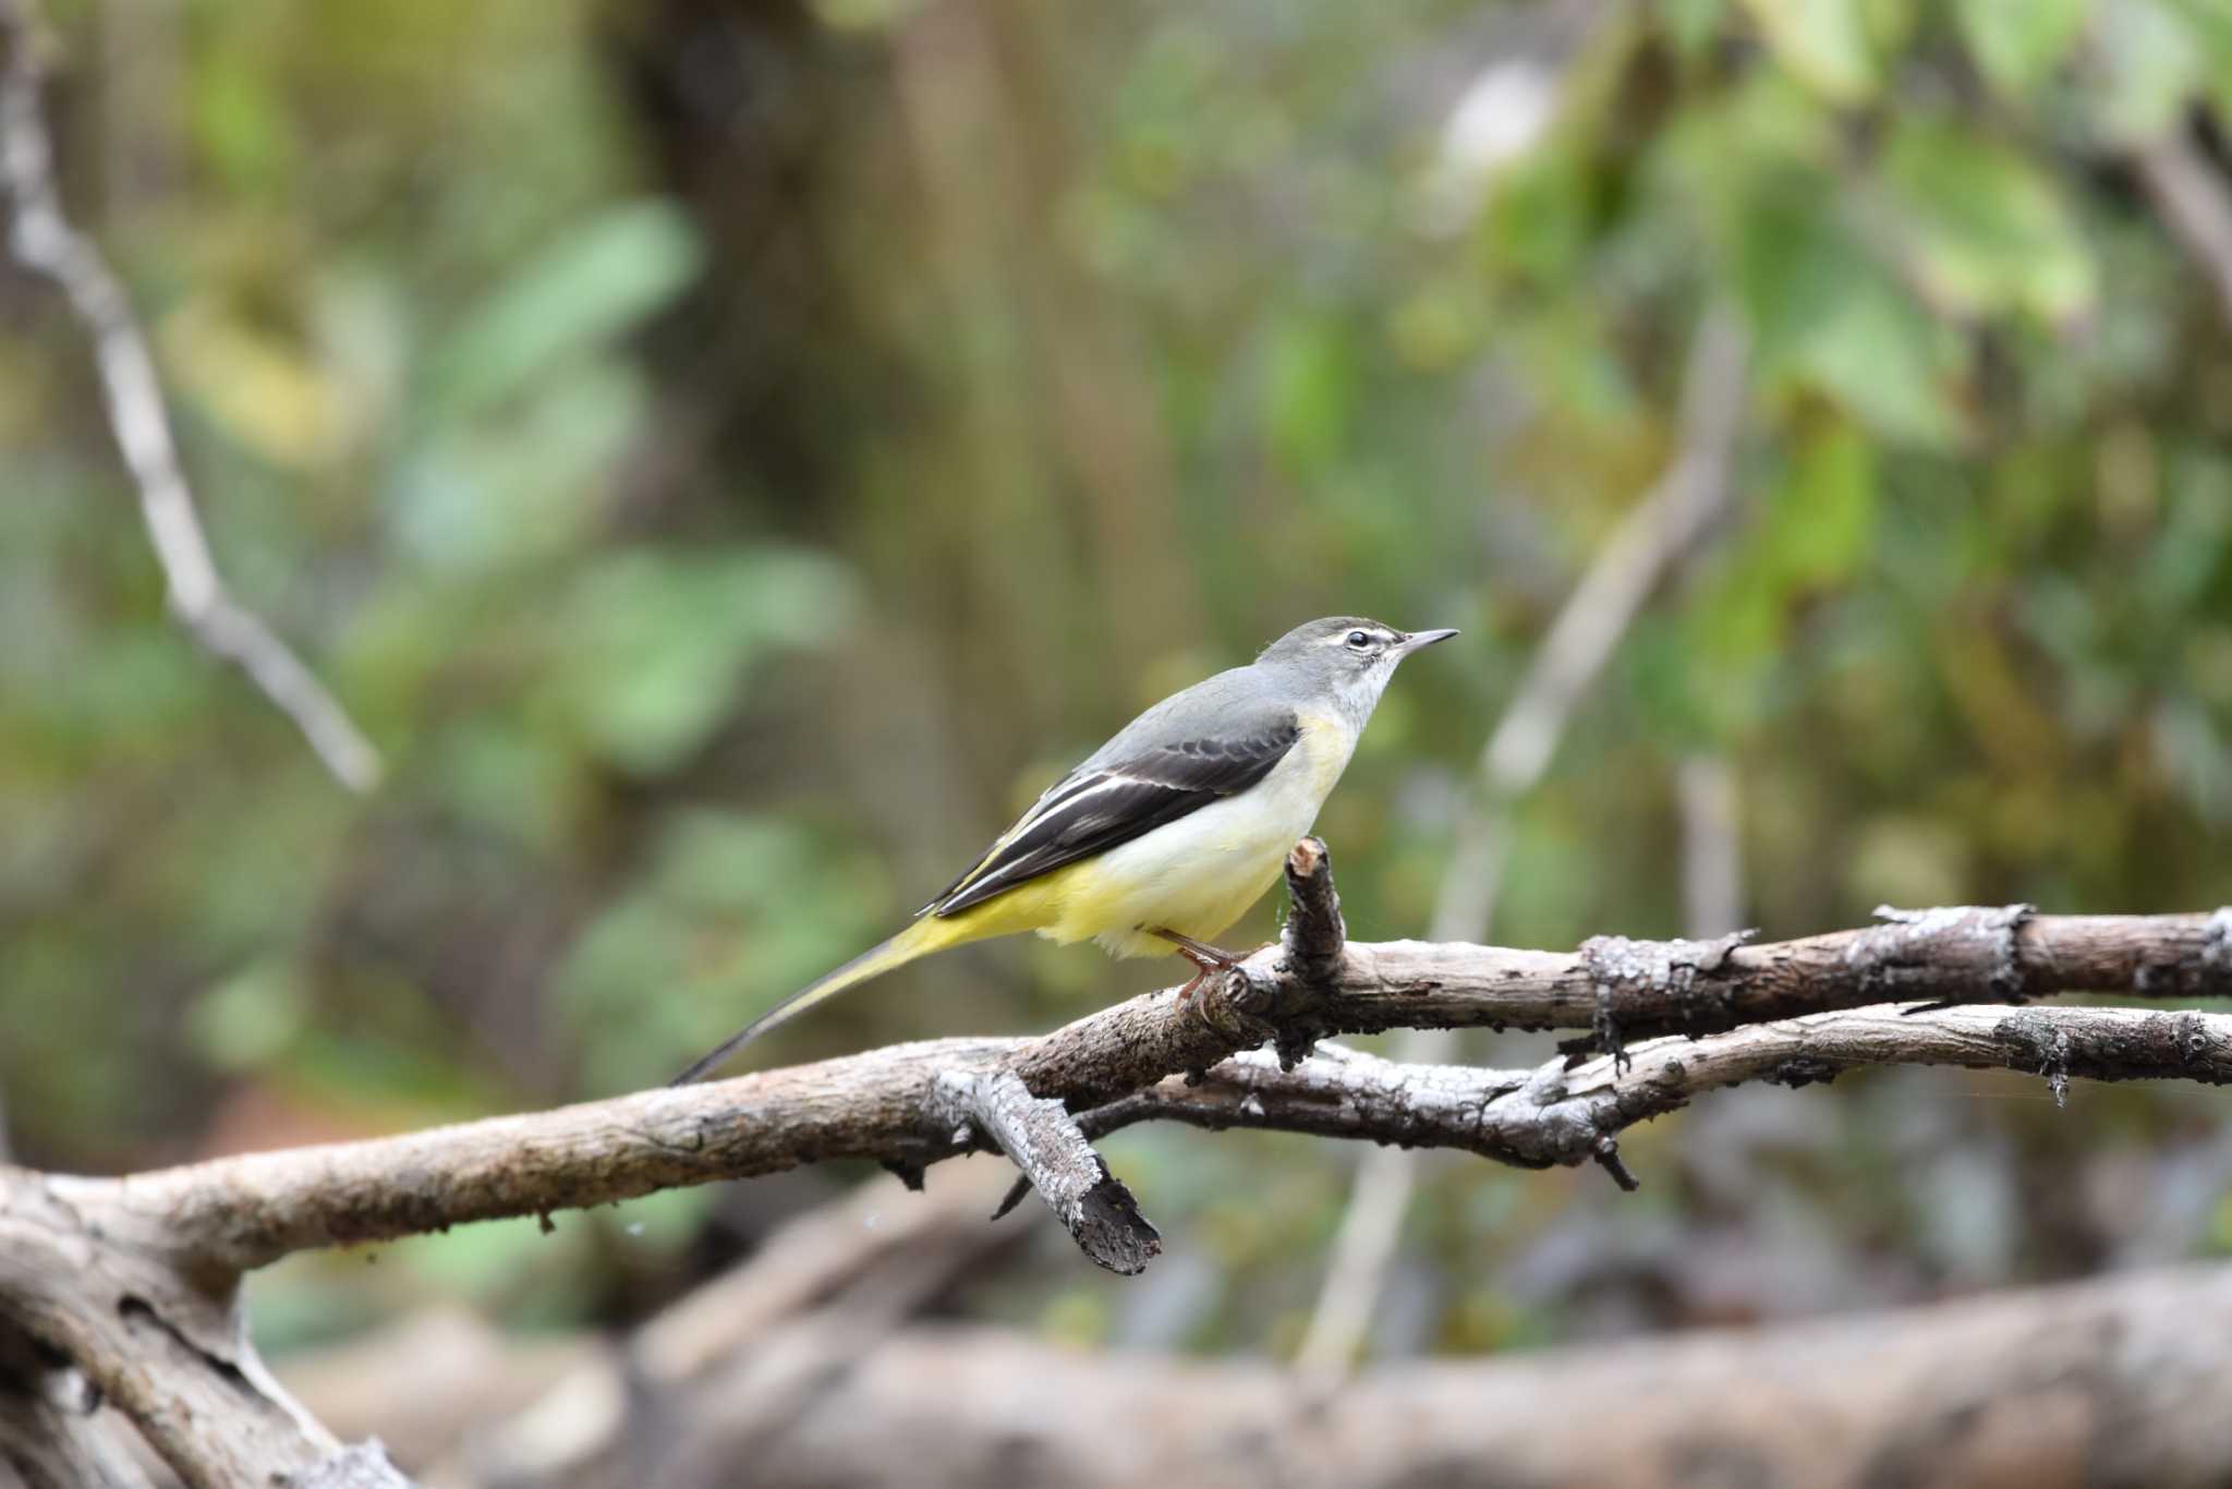
{"label": "main upper limb of the sharp branch under the bird, without lower fork", "polygon": [[[181,1261],[243,1270],[292,1250],[420,1235],[475,1219],[542,1214],[658,1188],[766,1174],[826,1159],[924,1165],[984,1145],[955,1141],[953,1072],[1013,1074],[1038,1098],[1089,1109],[1208,1072],[1274,1034],[1395,1027],[1571,1027],[1607,1022],[1627,1038],[1904,1002],[1993,1002],[2058,991],[2154,998],[2232,996],[2232,911],[2214,915],[2027,915],[1989,909],[1899,913],[1891,924],[1763,947],[1725,942],[1591,942],[1580,953],[1350,944],[1339,982],[1312,989],[1270,947],[1190,1002],[1145,993],[1038,1038],[949,1038],[638,1092],[614,1101],[500,1116],[395,1139],[248,1154],[129,1179],[4,1179],[105,1212]],[[2094,1027],[2109,1009],[2053,1009]],[[1980,1014],[1986,1025],[1998,1014]],[[2207,1020],[2203,1020],[2207,1022]],[[1790,1025],[1821,1043],[1846,1025]],[[1928,1058],[1957,1020],[1870,1014],[1875,1058],[1899,1058],[1899,1031]],[[2036,1027],[2015,1022],[2015,1027]],[[1665,1078],[1665,1060],[1725,1067],[1757,1038],[1674,1043],[1656,1067],[1632,1051],[1623,1085]],[[1774,1036],[1795,1038],[1795,1036]],[[1797,1054],[1812,1054],[1810,1049]],[[1989,1051],[1984,1051],[1989,1054]],[[2138,1047],[2127,1049],[2136,1056]],[[1723,1065],[1714,1065],[1721,1060]],[[1986,1060],[1991,1063],[1991,1060]],[[1585,1065],[1567,1085],[1580,1089]],[[2114,1058],[2069,1074],[2116,1074]],[[2134,1065],[2185,1076],[2199,1067]],[[1654,1074],[1656,1072],[1656,1074]],[[1745,1078],[1745,1076],[1739,1076]],[[7,1174],[7,1170],[0,1170]],[[9,1212],[0,1210],[0,1219]]]}

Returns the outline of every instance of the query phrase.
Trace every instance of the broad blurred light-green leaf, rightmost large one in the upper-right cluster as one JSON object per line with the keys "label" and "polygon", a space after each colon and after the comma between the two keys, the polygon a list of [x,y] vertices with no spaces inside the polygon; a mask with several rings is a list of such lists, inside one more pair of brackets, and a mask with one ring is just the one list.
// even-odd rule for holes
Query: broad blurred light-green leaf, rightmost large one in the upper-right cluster
{"label": "broad blurred light-green leaf, rightmost large one in the upper-right cluster", "polygon": [[2024,156],[1946,121],[1902,118],[1884,179],[1940,304],[1978,315],[2022,308],[2056,324],[2091,310],[2091,252],[2053,183]]}

